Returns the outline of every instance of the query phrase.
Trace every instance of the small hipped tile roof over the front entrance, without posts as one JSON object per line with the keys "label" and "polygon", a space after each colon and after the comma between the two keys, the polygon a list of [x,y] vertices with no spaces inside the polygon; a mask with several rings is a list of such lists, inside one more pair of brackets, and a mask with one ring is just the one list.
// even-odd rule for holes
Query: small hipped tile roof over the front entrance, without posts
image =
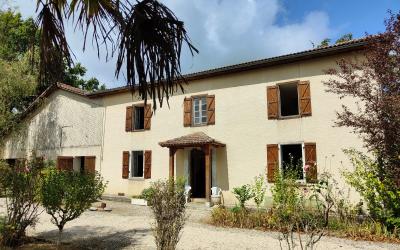
{"label": "small hipped tile roof over the front entrance, without posts", "polygon": [[212,145],[216,147],[224,147],[225,144],[209,137],[203,132],[196,132],[189,135],[184,135],[178,138],[167,140],[159,143],[161,147],[168,148],[182,148],[182,147],[196,147],[203,145]]}

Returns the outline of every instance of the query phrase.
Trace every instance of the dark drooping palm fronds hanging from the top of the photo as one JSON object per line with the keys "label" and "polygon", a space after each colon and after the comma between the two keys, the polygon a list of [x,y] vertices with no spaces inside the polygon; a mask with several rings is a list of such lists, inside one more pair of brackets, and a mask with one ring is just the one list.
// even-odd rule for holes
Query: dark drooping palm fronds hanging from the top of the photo
{"label": "dark drooping palm fronds hanging from the top of the photo", "polygon": [[[37,0],[40,27],[40,81],[60,80],[64,62],[72,64],[64,22],[73,19],[84,34],[83,49],[91,38],[98,55],[104,48],[117,56],[115,75],[125,68],[127,85],[156,108],[184,81],[180,70],[182,45],[193,54],[183,22],[156,0]],[[74,17],[74,18],[73,18]]]}

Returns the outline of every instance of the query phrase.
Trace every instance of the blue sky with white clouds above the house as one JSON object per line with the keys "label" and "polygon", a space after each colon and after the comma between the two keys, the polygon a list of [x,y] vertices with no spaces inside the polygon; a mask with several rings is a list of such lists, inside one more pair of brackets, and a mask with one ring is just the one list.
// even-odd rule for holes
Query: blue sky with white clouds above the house
{"label": "blue sky with white clouds above the house", "polygon": [[[2,1],[2,0],[0,0]],[[4,0],[3,0],[4,1]],[[36,0],[8,0],[23,17],[35,16]],[[199,54],[183,51],[183,73],[237,64],[311,49],[323,39],[355,38],[385,29],[387,11],[400,0],[161,0],[184,21]],[[108,88],[123,86],[115,77],[115,58],[97,57],[90,43],[82,51],[82,34],[67,26],[75,61]]]}

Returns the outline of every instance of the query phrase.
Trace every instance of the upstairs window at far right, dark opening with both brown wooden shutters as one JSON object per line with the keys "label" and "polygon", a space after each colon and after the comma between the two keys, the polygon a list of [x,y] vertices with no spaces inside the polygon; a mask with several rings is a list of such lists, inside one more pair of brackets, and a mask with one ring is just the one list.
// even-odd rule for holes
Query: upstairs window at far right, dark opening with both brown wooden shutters
{"label": "upstairs window at far right, dark opening with both brown wooden shutters", "polygon": [[311,116],[309,81],[267,87],[268,119]]}

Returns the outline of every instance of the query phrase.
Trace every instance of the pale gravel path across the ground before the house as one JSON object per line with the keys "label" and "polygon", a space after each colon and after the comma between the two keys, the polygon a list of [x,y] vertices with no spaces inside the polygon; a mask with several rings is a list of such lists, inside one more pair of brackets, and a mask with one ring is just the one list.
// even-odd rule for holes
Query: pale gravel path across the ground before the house
{"label": "pale gravel path across the ground before the house", "polygon": [[[63,241],[78,242],[82,249],[155,249],[151,232],[151,212],[147,207],[106,201],[112,212],[85,212],[67,223]],[[0,212],[4,211],[0,204]],[[187,222],[178,249],[280,249],[278,234],[257,230],[218,228],[201,223],[209,214],[188,209]],[[30,235],[56,240],[58,231],[43,213]],[[351,241],[324,237],[317,249],[400,249],[400,245]]]}

